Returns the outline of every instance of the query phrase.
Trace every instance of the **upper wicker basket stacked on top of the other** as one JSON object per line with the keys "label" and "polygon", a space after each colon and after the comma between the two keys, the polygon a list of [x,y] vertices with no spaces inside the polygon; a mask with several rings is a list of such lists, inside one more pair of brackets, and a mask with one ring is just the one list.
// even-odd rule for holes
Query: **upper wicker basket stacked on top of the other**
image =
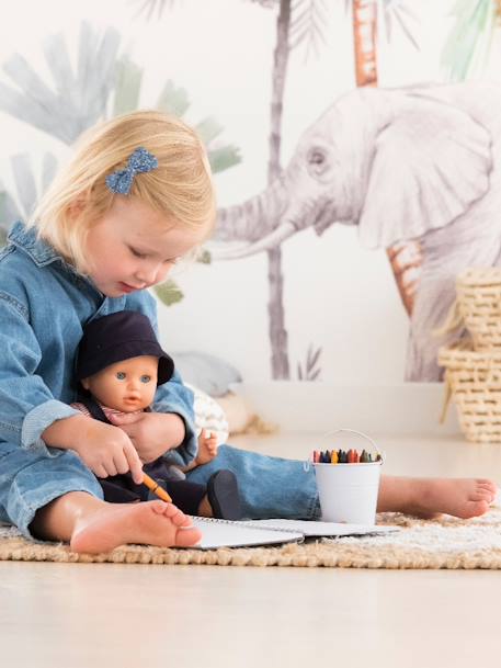
{"label": "upper wicker basket stacked on top of the other", "polygon": [[467,269],[456,280],[456,308],[474,350],[501,350],[501,269]]}

